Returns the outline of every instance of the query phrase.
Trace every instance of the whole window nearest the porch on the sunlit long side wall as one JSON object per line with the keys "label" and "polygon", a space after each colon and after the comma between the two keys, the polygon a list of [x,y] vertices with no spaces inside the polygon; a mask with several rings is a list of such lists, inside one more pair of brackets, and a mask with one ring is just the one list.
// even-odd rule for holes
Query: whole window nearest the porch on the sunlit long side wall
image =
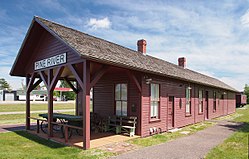
{"label": "whole window nearest the porch on the sunlit long side wall", "polygon": [[150,84],[150,117],[159,118],[159,105],[160,105],[160,95],[159,95],[159,84]]}

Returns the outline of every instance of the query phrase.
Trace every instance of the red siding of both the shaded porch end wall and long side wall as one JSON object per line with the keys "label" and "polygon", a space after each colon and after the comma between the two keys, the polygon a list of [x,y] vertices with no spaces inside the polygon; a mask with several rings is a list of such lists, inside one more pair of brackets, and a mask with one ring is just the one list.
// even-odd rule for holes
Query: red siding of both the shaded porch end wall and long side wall
{"label": "red siding of both the shaded porch end wall and long side wall", "polygon": [[[207,86],[191,84],[180,80],[162,78],[151,75],[153,83],[160,84],[160,110],[159,120],[150,119],[150,85],[146,84],[143,76],[137,76],[141,83],[140,95],[135,83],[129,79],[124,69],[112,68],[94,86],[94,112],[108,117],[115,114],[114,86],[116,83],[128,84],[128,115],[137,116],[138,124],[136,134],[150,135],[150,128],[158,131],[168,131],[168,99],[174,96],[174,127],[183,127],[189,124],[201,122],[206,116],[205,94],[208,92],[208,119],[227,115],[235,112],[235,93],[225,92]],[[185,89],[191,87],[191,115],[186,116]],[[199,113],[198,91],[203,90],[203,113]],[[217,93],[216,111],[213,109],[213,94]],[[222,99],[222,95],[223,98]],[[131,106],[136,106],[132,112]]]}

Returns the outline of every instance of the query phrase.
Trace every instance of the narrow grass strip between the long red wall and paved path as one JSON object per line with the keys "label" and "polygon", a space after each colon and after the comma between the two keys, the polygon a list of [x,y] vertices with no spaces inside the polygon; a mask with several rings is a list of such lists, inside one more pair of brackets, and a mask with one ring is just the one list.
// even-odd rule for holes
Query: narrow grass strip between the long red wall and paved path
{"label": "narrow grass strip between the long red wall and paved path", "polygon": [[190,134],[193,134],[197,131],[200,131],[200,130],[203,130],[207,127],[210,127],[214,124],[215,124],[214,122],[205,121],[205,122],[197,123],[194,125],[186,126],[177,132],[173,132],[173,133],[166,132],[166,133],[157,134],[157,135],[153,135],[153,136],[146,137],[146,138],[137,138],[134,140],[129,140],[128,142],[132,143],[132,144],[136,144],[136,145],[141,146],[141,147],[157,145],[160,143],[168,142],[170,140],[174,140],[174,139],[182,137],[182,136],[186,136],[186,134],[181,133],[183,131],[188,131],[189,133],[187,135],[190,135]]}

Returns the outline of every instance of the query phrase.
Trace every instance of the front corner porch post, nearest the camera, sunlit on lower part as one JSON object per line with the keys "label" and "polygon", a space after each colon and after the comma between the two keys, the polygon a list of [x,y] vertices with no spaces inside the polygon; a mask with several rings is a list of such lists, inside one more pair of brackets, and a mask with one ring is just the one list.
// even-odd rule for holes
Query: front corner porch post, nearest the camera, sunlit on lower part
{"label": "front corner porch post, nearest the camera, sunlit on lower part", "polygon": [[83,66],[83,149],[90,148],[90,62]]}

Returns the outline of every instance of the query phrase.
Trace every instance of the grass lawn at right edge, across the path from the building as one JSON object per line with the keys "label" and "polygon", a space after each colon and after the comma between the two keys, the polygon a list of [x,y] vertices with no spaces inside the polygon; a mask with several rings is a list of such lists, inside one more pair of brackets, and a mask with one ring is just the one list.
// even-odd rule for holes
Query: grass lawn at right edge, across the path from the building
{"label": "grass lawn at right edge, across the path from the building", "polygon": [[213,158],[248,158],[248,138],[249,138],[249,105],[244,108],[239,108],[236,113],[230,116],[235,122],[243,122],[243,127],[226,139],[222,144],[213,148],[207,159]]}

